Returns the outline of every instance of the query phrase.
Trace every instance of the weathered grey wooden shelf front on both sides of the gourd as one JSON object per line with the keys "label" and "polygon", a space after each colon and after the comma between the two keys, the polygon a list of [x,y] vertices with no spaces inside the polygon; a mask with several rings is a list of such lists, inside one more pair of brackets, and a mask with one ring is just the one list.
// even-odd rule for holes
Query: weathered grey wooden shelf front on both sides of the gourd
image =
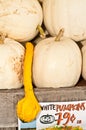
{"label": "weathered grey wooden shelf front on both sides of the gourd", "polygon": [[[70,88],[34,88],[39,102],[86,100],[86,81]],[[16,104],[24,97],[24,90],[0,90],[0,128],[17,127]]]}

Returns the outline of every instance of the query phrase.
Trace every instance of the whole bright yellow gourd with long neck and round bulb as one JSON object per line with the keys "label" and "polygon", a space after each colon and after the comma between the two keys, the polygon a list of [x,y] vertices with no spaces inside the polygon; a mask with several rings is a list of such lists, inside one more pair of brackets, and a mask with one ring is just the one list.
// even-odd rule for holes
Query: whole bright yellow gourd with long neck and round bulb
{"label": "whole bright yellow gourd with long neck and round bulb", "polygon": [[17,115],[25,122],[34,120],[37,114],[40,112],[41,107],[34,95],[31,67],[33,58],[33,44],[26,43],[26,53],[24,60],[24,90],[25,97],[21,99],[17,104]]}

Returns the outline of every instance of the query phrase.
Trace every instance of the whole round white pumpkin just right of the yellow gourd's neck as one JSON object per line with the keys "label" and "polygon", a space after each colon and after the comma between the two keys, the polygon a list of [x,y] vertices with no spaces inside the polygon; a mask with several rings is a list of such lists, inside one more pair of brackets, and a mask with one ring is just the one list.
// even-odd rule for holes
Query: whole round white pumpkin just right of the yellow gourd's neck
{"label": "whole round white pumpkin just right of the yellow gourd's neck", "polygon": [[74,86],[80,78],[81,66],[81,51],[73,40],[47,38],[35,46],[33,83],[39,88]]}

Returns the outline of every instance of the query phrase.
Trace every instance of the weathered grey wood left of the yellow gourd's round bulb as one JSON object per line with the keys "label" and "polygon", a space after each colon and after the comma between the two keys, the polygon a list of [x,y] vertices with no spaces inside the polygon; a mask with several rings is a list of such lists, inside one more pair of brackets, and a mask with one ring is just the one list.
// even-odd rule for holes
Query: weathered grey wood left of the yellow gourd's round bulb
{"label": "weathered grey wood left of the yellow gourd's round bulb", "polygon": [[[16,104],[20,90],[0,90],[0,128],[17,127]],[[21,96],[20,96],[21,97]]]}

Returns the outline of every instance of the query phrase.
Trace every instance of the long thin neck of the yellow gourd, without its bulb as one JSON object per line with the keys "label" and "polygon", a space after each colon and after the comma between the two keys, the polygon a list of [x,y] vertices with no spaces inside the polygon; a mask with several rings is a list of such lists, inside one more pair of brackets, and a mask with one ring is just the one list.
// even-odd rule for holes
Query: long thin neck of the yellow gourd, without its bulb
{"label": "long thin neck of the yellow gourd, without its bulb", "polygon": [[[33,58],[33,45],[31,43],[26,43],[26,53],[24,61],[24,90],[25,96],[29,95],[30,91],[33,91],[32,86],[32,58]],[[27,65],[28,64],[28,65]]]}

